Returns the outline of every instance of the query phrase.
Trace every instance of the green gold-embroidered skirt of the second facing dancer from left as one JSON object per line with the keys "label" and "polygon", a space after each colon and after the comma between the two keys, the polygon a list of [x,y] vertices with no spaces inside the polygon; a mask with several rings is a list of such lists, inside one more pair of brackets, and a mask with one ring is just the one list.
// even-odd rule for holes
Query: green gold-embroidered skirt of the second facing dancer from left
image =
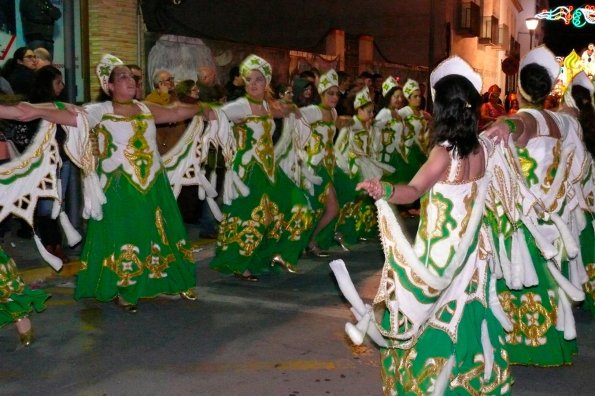
{"label": "green gold-embroidered skirt of the second facing dancer from left", "polygon": [[250,194],[223,207],[210,268],[226,274],[247,270],[259,275],[280,269],[272,266],[276,255],[295,266],[304,246],[303,234],[312,227],[306,194],[279,168],[273,182],[260,166],[252,164],[243,181]]}

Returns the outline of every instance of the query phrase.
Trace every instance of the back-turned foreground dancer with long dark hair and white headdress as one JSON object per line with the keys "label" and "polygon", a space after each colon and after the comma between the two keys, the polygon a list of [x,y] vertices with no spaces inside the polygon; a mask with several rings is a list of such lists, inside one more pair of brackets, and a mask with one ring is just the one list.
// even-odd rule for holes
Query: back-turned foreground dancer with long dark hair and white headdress
{"label": "back-turned foreground dancer with long dark hair and white headdress", "polygon": [[[379,199],[386,261],[370,313],[384,312],[378,323],[386,337],[383,391],[508,394],[512,378],[503,326],[510,322],[496,298],[488,224],[482,219],[499,199],[514,208],[517,197],[503,188],[514,181],[506,177],[497,148],[477,136],[479,74],[453,57],[430,80],[436,95],[428,161],[408,185],[377,179],[358,184]],[[500,175],[498,181],[488,170]],[[404,204],[420,196],[421,221],[411,246],[387,202]]]}

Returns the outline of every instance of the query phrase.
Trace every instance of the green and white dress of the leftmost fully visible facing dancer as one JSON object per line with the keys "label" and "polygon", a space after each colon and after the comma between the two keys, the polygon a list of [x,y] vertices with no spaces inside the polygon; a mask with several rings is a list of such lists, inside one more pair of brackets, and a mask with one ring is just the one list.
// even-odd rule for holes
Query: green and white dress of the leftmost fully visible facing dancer
{"label": "green and white dress of the leftmost fully visible facing dancer", "polygon": [[[111,102],[87,105],[77,128],[69,128],[67,152],[75,134],[86,136],[91,128],[98,135],[96,172],[107,201],[102,216],[87,225],[75,299],[122,296],[134,304],[196,286],[186,229],[156,147],[155,122],[145,105],[135,103],[142,113],[132,117],[114,114]],[[85,162],[80,153],[69,155]]]}

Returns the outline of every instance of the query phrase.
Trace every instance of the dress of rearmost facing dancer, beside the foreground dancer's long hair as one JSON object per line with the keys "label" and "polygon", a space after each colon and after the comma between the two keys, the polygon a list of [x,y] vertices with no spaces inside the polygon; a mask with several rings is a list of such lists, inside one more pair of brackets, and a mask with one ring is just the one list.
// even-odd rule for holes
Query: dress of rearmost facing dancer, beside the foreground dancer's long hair
{"label": "dress of rearmost facing dancer, beside the foreground dancer's long hair", "polygon": [[405,106],[399,109],[399,117],[403,120],[405,129],[402,137],[402,153],[404,154],[405,166],[400,172],[399,178],[409,183],[419,168],[426,162],[426,149],[428,144],[429,125],[423,114],[416,115],[413,109]]}

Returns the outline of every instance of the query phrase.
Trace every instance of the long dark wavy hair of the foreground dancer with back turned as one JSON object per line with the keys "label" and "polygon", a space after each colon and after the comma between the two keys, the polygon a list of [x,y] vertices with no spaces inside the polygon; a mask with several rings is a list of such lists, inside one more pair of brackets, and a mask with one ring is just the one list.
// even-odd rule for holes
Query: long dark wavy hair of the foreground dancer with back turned
{"label": "long dark wavy hair of the foreground dancer with back turned", "polygon": [[431,145],[448,141],[448,151],[459,158],[471,154],[479,146],[477,138],[481,95],[465,77],[449,75],[436,85],[434,127]]}

